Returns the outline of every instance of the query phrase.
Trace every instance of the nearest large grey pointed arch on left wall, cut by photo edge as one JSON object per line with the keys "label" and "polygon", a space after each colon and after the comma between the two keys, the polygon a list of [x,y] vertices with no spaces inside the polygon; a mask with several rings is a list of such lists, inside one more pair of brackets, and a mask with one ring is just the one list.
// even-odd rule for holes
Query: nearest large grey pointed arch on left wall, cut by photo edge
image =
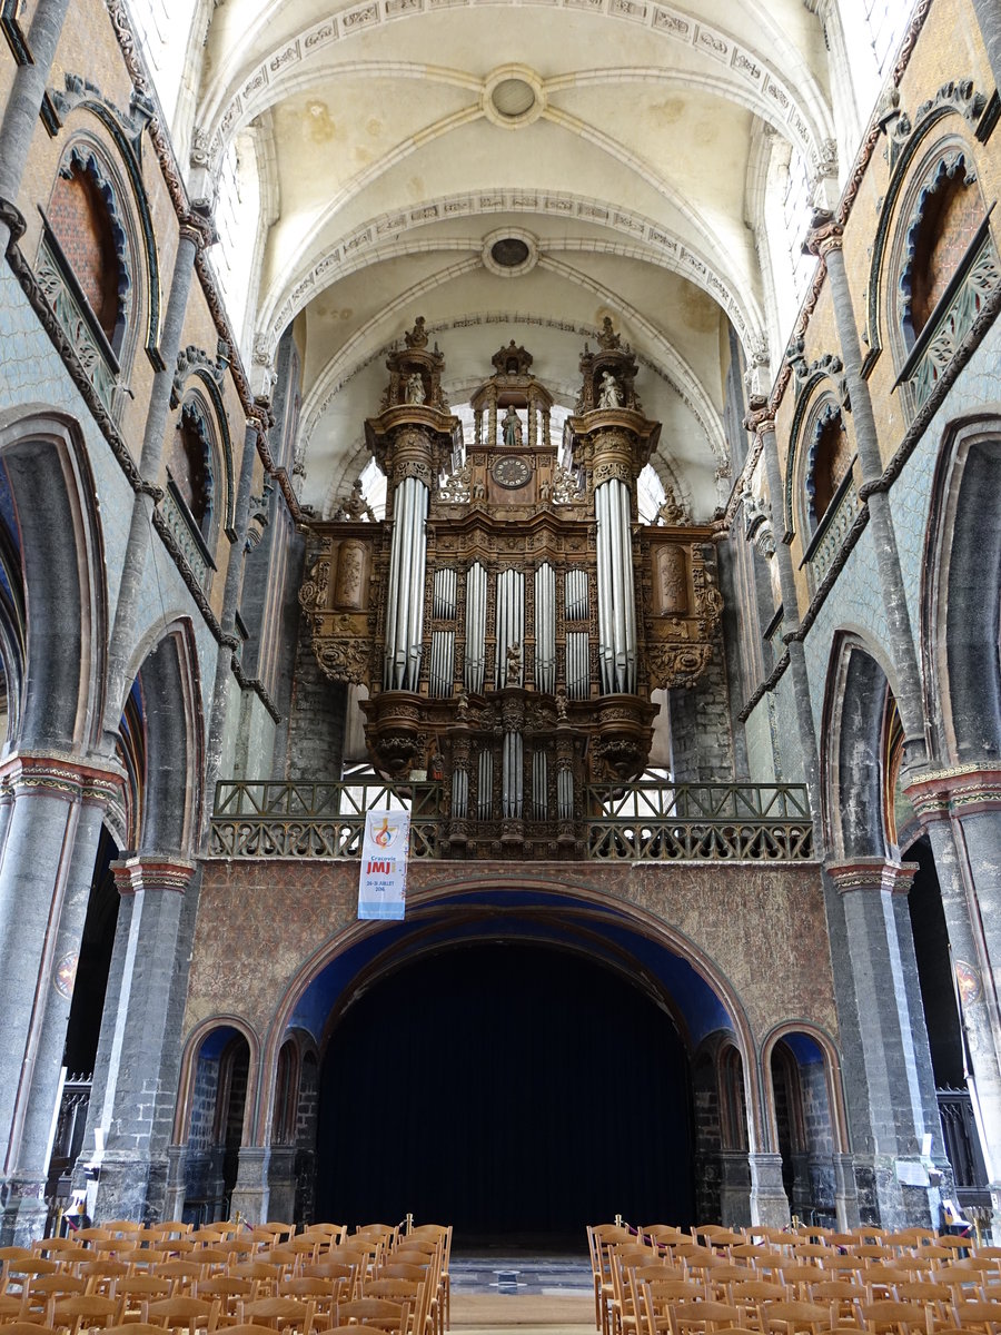
{"label": "nearest large grey pointed arch on left wall, cut by photo edge", "polygon": [[[12,741],[23,749],[87,749],[99,733],[107,590],[80,427],[44,406],[0,414],[0,462],[17,529],[25,613],[20,726]],[[8,630],[15,654],[15,626]]]}

